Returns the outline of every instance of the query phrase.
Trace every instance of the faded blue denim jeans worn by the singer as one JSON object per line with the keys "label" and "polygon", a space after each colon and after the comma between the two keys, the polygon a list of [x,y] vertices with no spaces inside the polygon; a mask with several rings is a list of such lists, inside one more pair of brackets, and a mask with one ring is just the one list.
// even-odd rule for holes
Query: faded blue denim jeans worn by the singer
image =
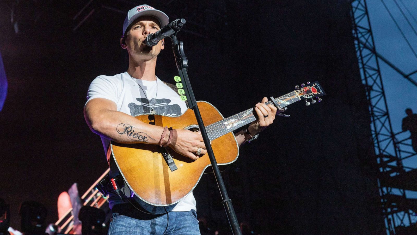
{"label": "faded blue denim jeans worn by the singer", "polygon": [[[120,215],[126,214],[126,215]],[[196,211],[168,212],[159,216],[140,212],[112,213],[108,235],[200,235]]]}

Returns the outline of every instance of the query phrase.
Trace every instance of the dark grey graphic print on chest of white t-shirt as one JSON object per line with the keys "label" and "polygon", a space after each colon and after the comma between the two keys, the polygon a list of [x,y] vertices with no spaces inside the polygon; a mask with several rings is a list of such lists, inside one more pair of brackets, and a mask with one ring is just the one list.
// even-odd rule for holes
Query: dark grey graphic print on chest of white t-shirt
{"label": "dark grey graphic print on chest of white t-shirt", "polygon": [[[135,103],[128,104],[130,109],[131,115],[140,115],[144,113],[151,113],[151,106],[153,107],[153,102],[155,102],[155,98],[152,98],[151,102],[149,102],[146,98],[137,98],[140,105],[136,105]],[[151,103],[151,105],[149,105]],[[178,116],[181,115],[181,107],[177,104],[168,105],[171,103],[169,99],[156,99],[155,107],[153,110],[156,111],[157,114],[160,115],[169,115],[169,116]]]}

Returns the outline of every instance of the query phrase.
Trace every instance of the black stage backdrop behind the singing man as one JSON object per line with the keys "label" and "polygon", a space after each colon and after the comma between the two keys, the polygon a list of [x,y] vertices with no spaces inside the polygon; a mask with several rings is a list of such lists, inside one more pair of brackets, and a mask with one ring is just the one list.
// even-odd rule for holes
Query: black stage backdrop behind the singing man
{"label": "black stage backdrop behind the singing man", "polygon": [[[0,112],[0,197],[18,229],[21,202],[45,204],[55,222],[60,192],[77,182],[83,193],[106,170],[100,138],[84,121],[86,91],[96,76],[127,68],[119,46],[126,14],[111,8],[127,12],[143,3],[93,1],[73,20],[85,1],[20,1],[16,34],[13,2],[0,3],[9,82]],[[224,171],[239,221],[272,234],[384,234],[376,179],[365,174],[372,143],[347,1],[147,4],[187,20],[178,38],[196,98],[224,116],[302,82],[318,80],[327,92],[319,104],[289,107],[290,118],[277,117]],[[173,82],[169,44],[157,75]],[[227,223],[213,176],[203,176],[194,194],[199,217]]]}

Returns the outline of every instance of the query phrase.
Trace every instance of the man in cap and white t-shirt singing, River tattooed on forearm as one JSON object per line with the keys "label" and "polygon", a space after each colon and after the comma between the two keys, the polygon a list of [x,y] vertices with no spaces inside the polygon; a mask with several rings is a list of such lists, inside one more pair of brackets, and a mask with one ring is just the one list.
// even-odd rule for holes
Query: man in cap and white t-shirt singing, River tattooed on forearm
{"label": "man in cap and white t-shirt singing, River tattooed on forearm", "polygon": [[[165,47],[164,40],[153,47],[143,43],[148,34],[155,33],[168,23],[165,13],[149,5],[139,5],[129,10],[120,39],[121,47],[127,50],[129,56],[127,71],[114,76],[98,76],[88,88],[84,107],[85,120],[90,129],[101,137],[111,177],[120,174],[111,150],[108,149],[111,140],[118,143],[169,146],[192,160],[207,153],[200,133],[182,129],[169,131],[133,117],[143,113],[178,116],[187,109],[186,103],[174,90],[175,86],[162,82],[155,75],[156,59]],[[265,105],[266,101],[267,98],[264,97],[255,106],[258,120],[251,123],[246,130],[235,134],[239,145],[274,121],[277,109],[273,105]],[[141,135],[132,138],[133,135],[123,134],[121,130],[124,128],[131,128],[131,131]],[[152,210],[146,210],[147,206],[141,199],[129,192],[127,186],[125,188],[123,192],[126,197],[138,203],[126,202],[114,193],[109,194],[112,209],[110,235],[200,234],[196,200],[192,192],[177,204],[164,207],[162,213],[152,214]]]}

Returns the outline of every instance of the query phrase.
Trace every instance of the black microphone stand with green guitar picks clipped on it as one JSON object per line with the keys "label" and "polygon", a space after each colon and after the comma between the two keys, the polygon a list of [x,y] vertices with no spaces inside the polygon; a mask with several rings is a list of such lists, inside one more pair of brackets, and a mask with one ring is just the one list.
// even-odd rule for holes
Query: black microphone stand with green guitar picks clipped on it
{"label": "black microphone stand with green guitar picks clipped on it", "polygon": [[191,89],[190,80],[188,79],[187,74],[188,60],[184,54],[183,42],[177,40],[176,33],[174,33],[170,37],[172,41],[172,49],[175,56],[175,62],[178,69],[178,75],[179,77],[181,77],[181,83],[183,85],[183,89],[187,97],[186,100],[188,101],[188,106],[190,107],[190,109],[194,110],[194,114],[196,115],[198,127],[200,128],[201,135],[203,136],[208,157],[210,158],[211,167],[213,168],[214,176],[216,177],[217,185],[219,186],[219,190],[221,193],[221,198],[223,199],[223,206],[226,210],[227,219],[229,220],[229,224],[233,234],[241,235],[242,233],[239,228],[239,222],[237,221],[236,213],[233,209],[232,201],[229,198],[229,195],[227,194],[226,186],[224,185],[223,178],[220,174],[219,166],[217,165],[216,158],[214,157],[213,149],[211,148],[210,140],[208,139],[203,119],[201,118],[200,111],[198,110],[196,97],[194,97],[193,90]]}

